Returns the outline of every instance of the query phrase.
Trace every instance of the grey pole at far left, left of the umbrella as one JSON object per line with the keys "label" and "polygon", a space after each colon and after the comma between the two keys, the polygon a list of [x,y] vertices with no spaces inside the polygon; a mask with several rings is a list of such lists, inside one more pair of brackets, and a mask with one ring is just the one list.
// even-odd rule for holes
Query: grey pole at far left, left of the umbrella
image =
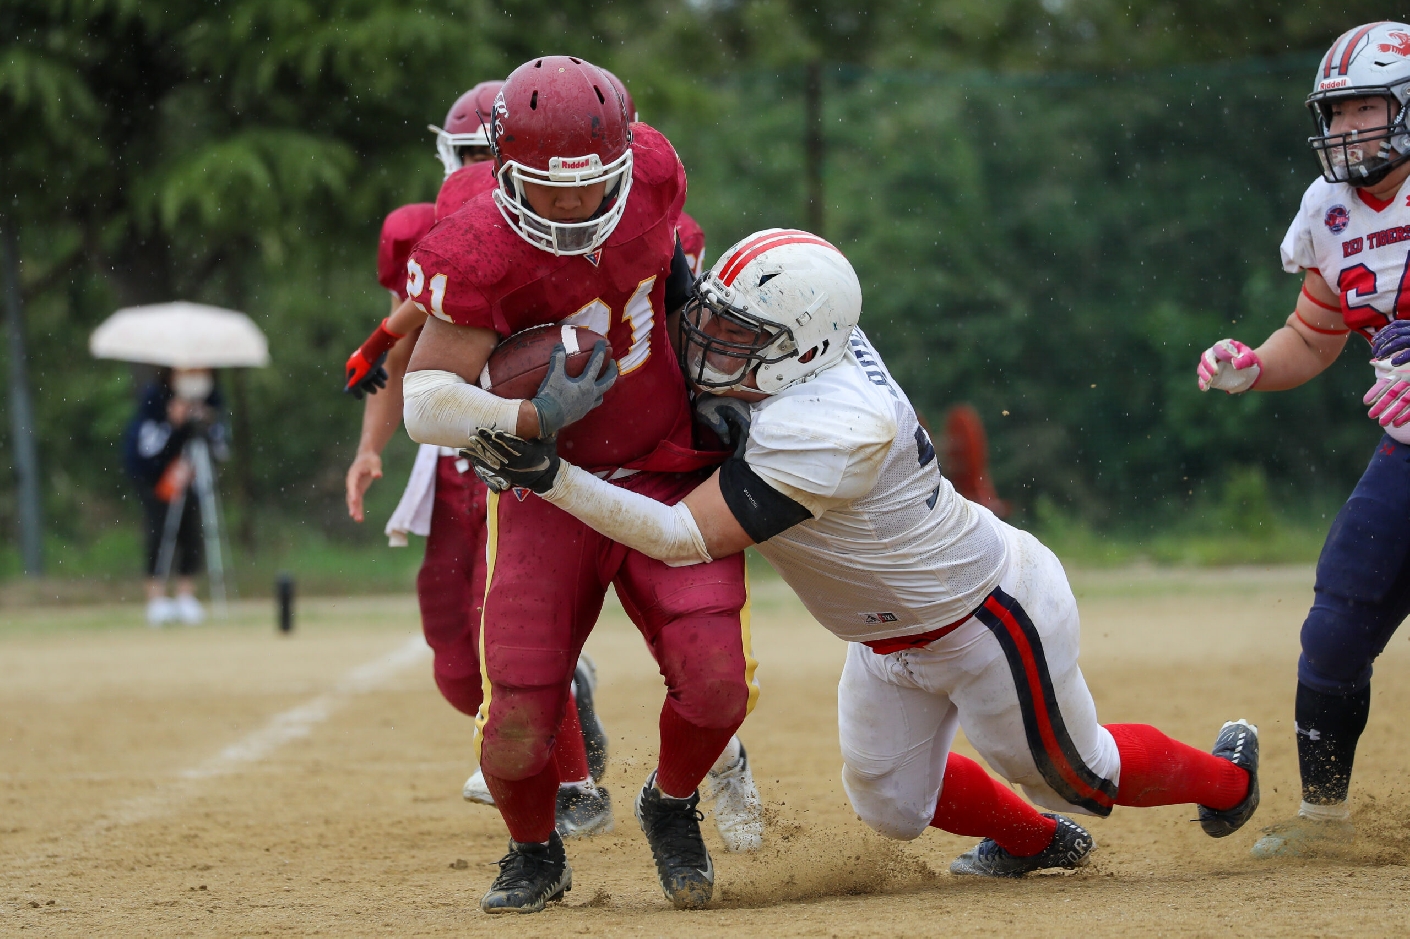
{"label": "grey pole at far left, left of the umbrella", "polygon": [[10,219],[0,214],[0,268],[4,271],[6,333],[10,340],[10,436],[20,477],[20,553],[24,572],[44,572],[39,530],[39,460],[34,448],[34,406],[24,351],[24,296],[20,292],[20,245]]}

